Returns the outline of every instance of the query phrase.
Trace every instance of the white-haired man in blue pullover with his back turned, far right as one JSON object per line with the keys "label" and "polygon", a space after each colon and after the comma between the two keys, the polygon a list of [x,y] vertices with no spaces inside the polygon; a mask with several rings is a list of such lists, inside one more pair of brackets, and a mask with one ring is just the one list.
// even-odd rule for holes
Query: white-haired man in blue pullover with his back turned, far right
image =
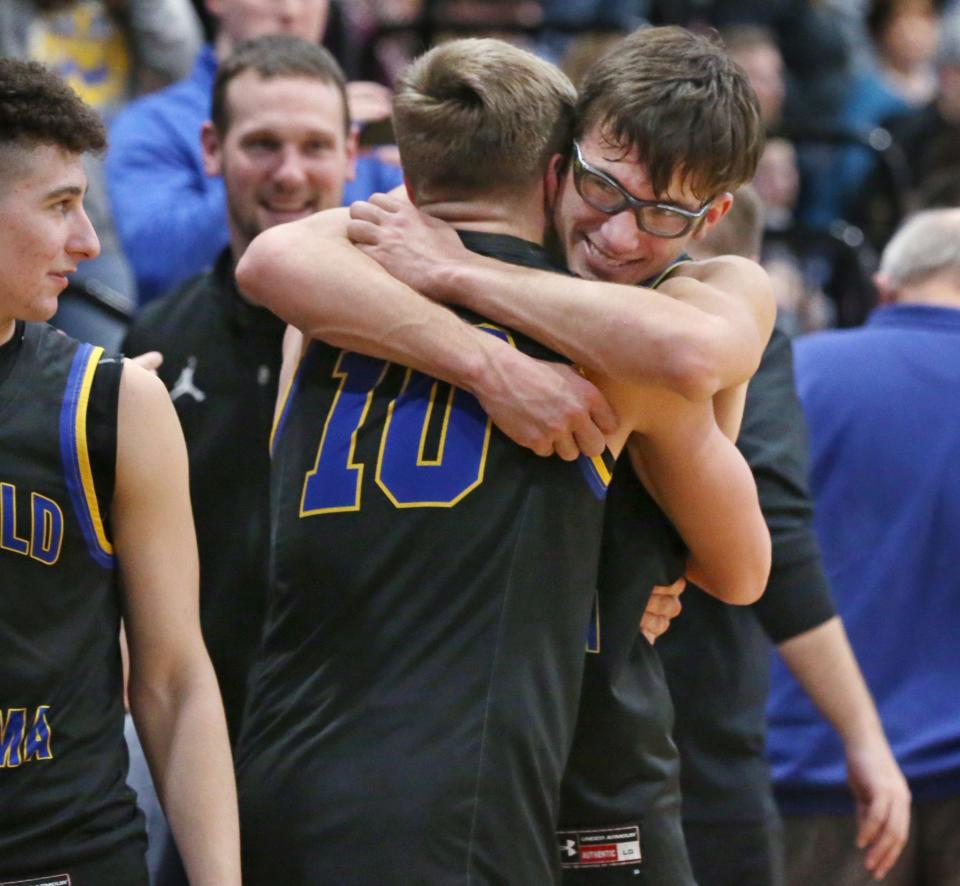
{"label": "white-haired man in blue pullover with his back turned, far right", "polygon": [[[909,219],[862,328],[796,343],[815,524],[867,683],[913,794],[887,883],[960,884],[960,209]],[[823,679],[829,680],[829,662]],[[768,749],[791,883],[866,882],[836,736],[782,666]]]}

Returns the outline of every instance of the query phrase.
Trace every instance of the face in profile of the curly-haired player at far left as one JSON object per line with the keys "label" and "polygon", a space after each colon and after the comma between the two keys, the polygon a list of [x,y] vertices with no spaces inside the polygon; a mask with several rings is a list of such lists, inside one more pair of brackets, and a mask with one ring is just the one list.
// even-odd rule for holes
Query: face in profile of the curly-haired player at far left
{"label": "face in profile of the curly-haired player at far left", "polygon": [[0,176],[0,342],[13,320],[49,320],[67,275],[100,252],[83,209],[80,156],[52,145],[10,153]]}

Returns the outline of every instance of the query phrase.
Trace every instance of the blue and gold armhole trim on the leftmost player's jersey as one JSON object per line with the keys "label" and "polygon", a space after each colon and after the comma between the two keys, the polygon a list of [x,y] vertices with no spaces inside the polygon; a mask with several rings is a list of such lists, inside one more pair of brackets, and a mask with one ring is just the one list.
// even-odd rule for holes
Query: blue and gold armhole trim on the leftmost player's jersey
{"label": "blue and gold armhole trim on the leftmost player's jersey", "polygon": [[81,344],[74,355],[60,409],[60,455],[73,510],[94,561],[105,569],[114,565],[113,545],[107,538],[93,485],[87,448],[87,407],[90,388],[103,348]]}

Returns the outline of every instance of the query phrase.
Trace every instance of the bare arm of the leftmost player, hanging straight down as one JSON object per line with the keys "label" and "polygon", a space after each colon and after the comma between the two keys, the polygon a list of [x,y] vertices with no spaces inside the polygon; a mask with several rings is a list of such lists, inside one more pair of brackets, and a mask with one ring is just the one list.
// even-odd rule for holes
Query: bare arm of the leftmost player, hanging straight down
{"label": "bare arm of the leftmost player, hanging straight down", "polygon": [[239,884],[233,765],[200,634],[186,447],[163,384],[129,361],[118,428],[112,516],[131,711],[190,882]]}

